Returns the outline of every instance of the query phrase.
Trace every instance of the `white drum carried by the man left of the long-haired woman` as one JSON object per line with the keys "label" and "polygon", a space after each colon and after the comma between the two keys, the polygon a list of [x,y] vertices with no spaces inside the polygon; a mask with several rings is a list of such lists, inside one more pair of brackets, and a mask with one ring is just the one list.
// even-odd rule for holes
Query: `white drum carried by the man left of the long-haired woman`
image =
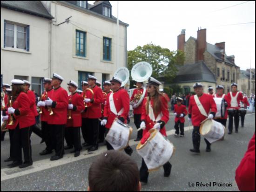
{"label": "white drum carried by the man left of the long-haired woman", "polygon": [[108,141],[115,150],[122,150],[129,145],[132,131],[132,127],[115,119],[106,136],[106,141]]}

